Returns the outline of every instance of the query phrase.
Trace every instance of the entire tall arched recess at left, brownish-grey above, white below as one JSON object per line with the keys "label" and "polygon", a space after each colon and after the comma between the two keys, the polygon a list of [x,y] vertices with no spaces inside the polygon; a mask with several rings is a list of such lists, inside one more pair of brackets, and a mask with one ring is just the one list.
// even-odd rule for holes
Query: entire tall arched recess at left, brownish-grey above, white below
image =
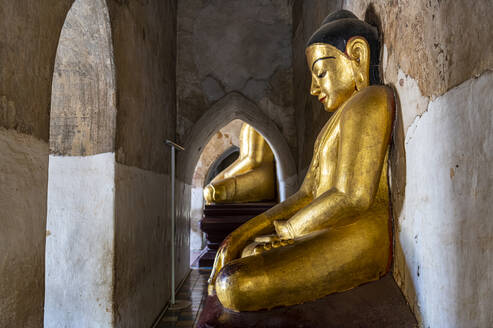
{"label": "entire tall arched recess at left, brownish-grey above, white below", "polygon": [[76,0],[52,81],[46,327],[111,326],[115,69],[105,0]]}

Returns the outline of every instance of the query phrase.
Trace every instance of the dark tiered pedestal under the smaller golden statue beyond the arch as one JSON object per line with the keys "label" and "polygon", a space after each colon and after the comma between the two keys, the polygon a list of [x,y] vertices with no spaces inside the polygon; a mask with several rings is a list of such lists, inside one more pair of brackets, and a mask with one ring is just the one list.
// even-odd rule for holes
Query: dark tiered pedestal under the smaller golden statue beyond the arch
{"label": "dark tiered pedestal under the smaller golden statue beyond the arch", "polygon": [[212,267],[217,249],[224,238],[246,221],[274,205],[275,203],[205,205],[200,229],[205,233],[207,248],[199,258],[199,267]]}

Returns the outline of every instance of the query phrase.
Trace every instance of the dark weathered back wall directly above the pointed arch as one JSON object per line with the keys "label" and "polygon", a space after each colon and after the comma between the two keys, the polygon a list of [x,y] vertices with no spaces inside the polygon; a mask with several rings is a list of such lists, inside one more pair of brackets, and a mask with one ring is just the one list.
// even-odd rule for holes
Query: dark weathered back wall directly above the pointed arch
{"label": "dark weathered back wall directly above the pointed arch", "polygon": [[179,140],[212,104],[239,92],[275,122],[294,154],[289,1],[183,0],[178,17]]}

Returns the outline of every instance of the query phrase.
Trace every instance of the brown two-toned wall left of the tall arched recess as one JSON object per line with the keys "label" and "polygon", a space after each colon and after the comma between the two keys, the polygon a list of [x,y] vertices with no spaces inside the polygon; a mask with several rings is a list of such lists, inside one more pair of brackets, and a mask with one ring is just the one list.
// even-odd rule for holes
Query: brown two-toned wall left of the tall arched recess
{"label": "brown two-toned wall left of the tall arched recess", "polygon": [[0,0],[2,327],[43,323],[51,79],[71,4]]}

